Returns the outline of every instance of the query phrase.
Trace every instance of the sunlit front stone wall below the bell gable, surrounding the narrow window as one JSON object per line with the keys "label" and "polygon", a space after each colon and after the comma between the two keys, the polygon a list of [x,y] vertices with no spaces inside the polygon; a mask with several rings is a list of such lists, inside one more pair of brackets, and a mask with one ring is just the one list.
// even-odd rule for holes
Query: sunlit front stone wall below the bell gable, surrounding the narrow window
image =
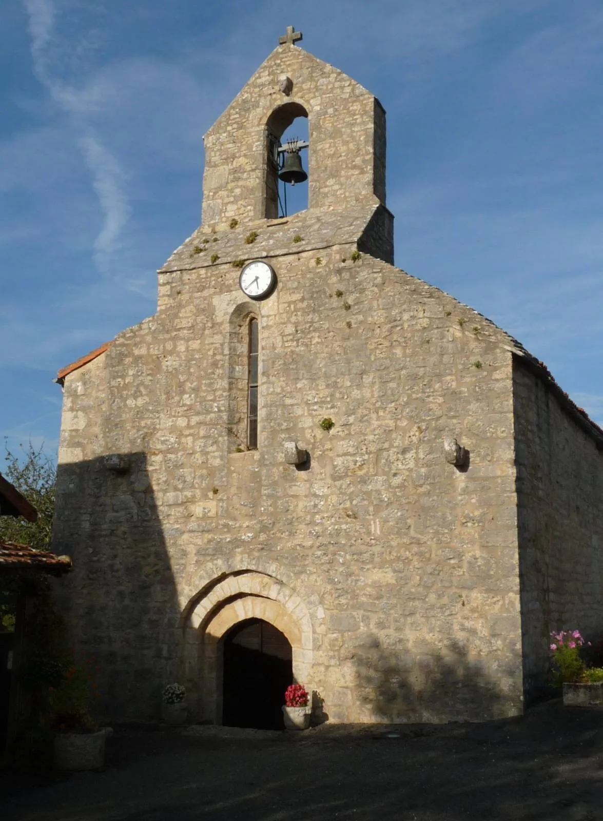
{"label": "sunlit front stone wall below the bell gable, surrounding the narrow window", "polygon": [[[247,303],[257,452],[228,437],[229,320],[246,303],[230,263],[161,273],[158,314],[67,376],[53,549],[74,560],[62,589],[108,716],[156,715],[183,614],[222,566],[272,568],[300,600],[303,683],[332,721],[521,711],[508,339],[354,249],[267,258],[277,290]],[[444,460],[446,435],[467,470]],[[309,470],[284,463],[288,440]]]}

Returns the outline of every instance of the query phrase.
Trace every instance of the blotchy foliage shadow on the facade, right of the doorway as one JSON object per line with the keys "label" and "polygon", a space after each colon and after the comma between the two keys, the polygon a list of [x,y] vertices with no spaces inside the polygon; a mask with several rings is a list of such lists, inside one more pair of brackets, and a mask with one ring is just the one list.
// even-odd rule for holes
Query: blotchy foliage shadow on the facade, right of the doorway
{"label": "blotchy foliage shadow on the facade, right of the doorway", "polygon": [[462,644],[419,656],[383,649],[371,635],[354,656],[362,698],[383,722],[486,721],[521,713],[521,700],[501,683],[517,678],[510,667],[494,681],[481,663],[467,658]]}

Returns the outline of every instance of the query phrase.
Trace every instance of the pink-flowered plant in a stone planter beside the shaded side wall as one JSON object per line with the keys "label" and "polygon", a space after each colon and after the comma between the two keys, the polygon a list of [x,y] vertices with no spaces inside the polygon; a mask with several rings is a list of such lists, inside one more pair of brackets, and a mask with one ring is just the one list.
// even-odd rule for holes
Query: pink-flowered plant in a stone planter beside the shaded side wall
{"label": "pink-flowered plant in a stone planter beside the shaded side wall", "polygon": [[588,667],[581,656],[581,648],[590,647],[590,641],[585,644],[578,630],[553,631],[550,636],[553,683],[563,688],[564,705],[603,704],[603,667]]}

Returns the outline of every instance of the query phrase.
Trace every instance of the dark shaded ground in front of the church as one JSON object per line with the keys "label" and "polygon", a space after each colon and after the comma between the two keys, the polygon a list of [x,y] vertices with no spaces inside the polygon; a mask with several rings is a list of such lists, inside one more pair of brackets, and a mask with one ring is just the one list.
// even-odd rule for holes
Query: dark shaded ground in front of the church
{"label": "dark shaded ground in front of the church", "polygon": [[297,734],[116,727],[103,772],[5,770],[0,796],[2,821],[603,821],[603,708]]}

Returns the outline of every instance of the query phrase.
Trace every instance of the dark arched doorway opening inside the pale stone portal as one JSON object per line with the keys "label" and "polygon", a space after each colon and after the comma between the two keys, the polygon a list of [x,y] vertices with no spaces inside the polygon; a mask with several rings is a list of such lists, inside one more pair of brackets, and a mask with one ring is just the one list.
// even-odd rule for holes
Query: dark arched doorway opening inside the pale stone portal
{"label": "dark arched doorway opening inside the pale stone portal", "polygon": [[285,690],[293,681],[287,638],[258,618],[239,622],[223,644],[223,724],[283,730]]}

